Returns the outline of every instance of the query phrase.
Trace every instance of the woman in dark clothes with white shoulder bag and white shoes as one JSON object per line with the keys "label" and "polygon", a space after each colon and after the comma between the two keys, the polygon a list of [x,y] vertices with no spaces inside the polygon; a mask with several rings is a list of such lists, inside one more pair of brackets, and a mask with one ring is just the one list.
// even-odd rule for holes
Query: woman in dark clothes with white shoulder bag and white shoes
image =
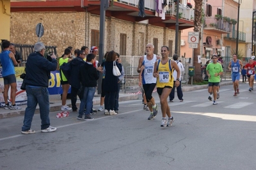
{"label": "woman in dark clothes with white shoulder bag and white shoes", "polygon": [[108,52],[107,58],[105,61],[105,82],[104,82],[104,91],[105,91],[105,115],[115,115],[117,114],[114,111],[114,104],[115,104],[115,93],[117,93],[117,82],[118,76],[113,75],[113,61],[117,65],[119,71],[122,71],[122,67],[118,65],[117,55],[115,54],[114,50]]}

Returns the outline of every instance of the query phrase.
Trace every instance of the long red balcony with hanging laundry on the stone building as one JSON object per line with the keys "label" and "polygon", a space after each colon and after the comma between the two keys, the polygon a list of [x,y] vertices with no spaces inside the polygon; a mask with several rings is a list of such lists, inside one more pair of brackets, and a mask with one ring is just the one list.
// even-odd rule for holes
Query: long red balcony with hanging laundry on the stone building
{"label": "long red balcony with hanging laundry on the stone building", "polygon": [[[106,11],[106,16],[115,17],[117,19],[130,20],[132,22],[140,22],[146,20],[146,23],[160,26],[168,27],[170,29],[175,29],[176,23],[176,4],[171,1],[169,3],[169,10],[166,12],[166,19],[162,20],[161,17],[155,16],[156,3],[155,0],[144,1],[144,12],[146,17],[139,17],[139,0],[114,0],[110,4],[108,10]],[[96,4],[99,4],[99,0],[88,0],[88,12],[99,14],[99,10],[96,9]],[[94,6],[94,8],[90,7]],[[187,29],[189,27],[194,27],[194,10],[186,6],[185,4],[179,5],[179,15],[178,15],[179,29]]]}

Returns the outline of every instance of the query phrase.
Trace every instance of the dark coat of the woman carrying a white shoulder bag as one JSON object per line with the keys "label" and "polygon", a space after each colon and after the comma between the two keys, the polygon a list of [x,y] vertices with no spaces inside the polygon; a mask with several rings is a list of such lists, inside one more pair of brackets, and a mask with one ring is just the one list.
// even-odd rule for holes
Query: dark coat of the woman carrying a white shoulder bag
{"label": "dark coat of the woman carrying a white shoulder bag", "polygon": [[[122,71],[122,66],[119,65],[115,61],[117,67],[119,68],[119,71]],[[113,61],[105,61],[105,81],[104,81],[104,91],[106,92],[115,92],[117,91],[117,82],[118,82],[118,76],[115,76],[113,74]]]}

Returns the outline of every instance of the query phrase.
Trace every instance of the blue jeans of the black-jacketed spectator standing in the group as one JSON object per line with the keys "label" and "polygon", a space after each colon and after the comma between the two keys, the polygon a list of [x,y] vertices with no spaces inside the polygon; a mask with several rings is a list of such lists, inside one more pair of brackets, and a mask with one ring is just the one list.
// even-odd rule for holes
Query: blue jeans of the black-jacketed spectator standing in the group
{"label": "blue jeans of the black-jacketed spectator standing in the group", "polygon": [[90,114],[95,91],[96,87],[85,87],[85,91],[83,91],[83,98],[81,99],[81,104],[79,108],[79,115],[83,115],[85,108],[85,114]]}

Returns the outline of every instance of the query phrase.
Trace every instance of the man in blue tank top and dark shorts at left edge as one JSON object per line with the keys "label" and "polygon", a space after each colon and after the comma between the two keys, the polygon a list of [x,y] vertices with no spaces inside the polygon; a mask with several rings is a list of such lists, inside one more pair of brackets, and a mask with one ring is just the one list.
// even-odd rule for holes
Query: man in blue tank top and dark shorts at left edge
{"label": "man in blue tank top and dark shorts at left edge", "polygon": [[[12,109],[12,110],[21,110],[21,107],[15,104],[16,98],[16,91],[17,91],[17,83],[15,77],[15,70],[14,66],[17,66],[17,61],[13,52],[10,49],[10,42],[4,41],[3,45],[3,52],[0,54],[0,60],[3,67],[2,76],[4,79],[4,109]],[[12,98],[12,105],[9,105],[8,102],[8,91],[11,86],[11,98]]]}

